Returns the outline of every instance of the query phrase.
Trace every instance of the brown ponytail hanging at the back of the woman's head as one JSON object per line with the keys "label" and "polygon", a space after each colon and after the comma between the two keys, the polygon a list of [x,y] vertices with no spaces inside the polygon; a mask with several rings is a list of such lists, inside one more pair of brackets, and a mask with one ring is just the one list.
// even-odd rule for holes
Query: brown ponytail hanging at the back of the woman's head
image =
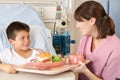
{"label": "brown ponytail hanging at the back of the woman's head", "polygon": [[113,35],[115,33],[115,25],[109,15],[97,20],[96,25],[99,33],[97,38],[105,38],[107,35]]}

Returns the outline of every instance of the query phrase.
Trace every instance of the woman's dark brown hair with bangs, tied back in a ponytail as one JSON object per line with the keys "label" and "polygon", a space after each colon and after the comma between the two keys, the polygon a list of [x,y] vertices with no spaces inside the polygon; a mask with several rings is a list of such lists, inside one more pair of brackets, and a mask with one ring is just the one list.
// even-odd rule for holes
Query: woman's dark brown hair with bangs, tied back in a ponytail
{"label": "woman's dark brown hair with bangs, tied back in a ponytail", "polygon": [[81,22],[83,19],[90,20],[91,17],[96,18],[97,38],[105,38],[107,35],[115,33],[115,25],[109,15],[106,14],[103,6],[96,1],[86,1],[82,3],[75,11],[74,17]]}

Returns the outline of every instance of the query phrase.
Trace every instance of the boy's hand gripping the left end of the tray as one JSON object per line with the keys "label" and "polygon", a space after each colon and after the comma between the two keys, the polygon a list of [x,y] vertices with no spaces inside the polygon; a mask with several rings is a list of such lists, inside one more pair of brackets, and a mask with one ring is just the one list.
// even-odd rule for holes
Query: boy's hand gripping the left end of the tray
{"label": "boy's hand gripping the left end of the tray", "polygon": [[18,71],[14,68],[13,65],[11,64],[4,64],[3,65],[3,71],[13,74],[13,73],[17,73]]}

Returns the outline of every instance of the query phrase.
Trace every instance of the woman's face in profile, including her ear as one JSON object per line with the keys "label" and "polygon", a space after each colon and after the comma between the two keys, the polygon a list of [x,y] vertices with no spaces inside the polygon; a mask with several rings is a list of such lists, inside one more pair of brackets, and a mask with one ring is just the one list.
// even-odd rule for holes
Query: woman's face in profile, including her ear
{"label": "woman's face in profile, including her ear", "polygon": [[78,22],[76,27],[80,28],[80,31],[82,35],[92,35],[93,34],[93,28],[94,28],[94,23],[93,20],[85,20],[84,21]]}

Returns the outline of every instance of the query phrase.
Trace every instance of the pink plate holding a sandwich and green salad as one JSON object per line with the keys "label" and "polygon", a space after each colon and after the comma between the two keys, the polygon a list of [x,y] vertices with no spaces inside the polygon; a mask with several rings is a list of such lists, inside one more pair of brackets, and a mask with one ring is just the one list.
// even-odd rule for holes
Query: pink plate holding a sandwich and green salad
{"label": "pink plate holding a sandwich and green salad", "polygon": [[46,69],[62,66],[65,63],[66,63],[66,59],[64,59],[62,56],[57,54],[51,55],[49,52],[43,52],[37,54],[36,58],[31,60],[31,62],[20,65],[19,67],[46,70]]}

